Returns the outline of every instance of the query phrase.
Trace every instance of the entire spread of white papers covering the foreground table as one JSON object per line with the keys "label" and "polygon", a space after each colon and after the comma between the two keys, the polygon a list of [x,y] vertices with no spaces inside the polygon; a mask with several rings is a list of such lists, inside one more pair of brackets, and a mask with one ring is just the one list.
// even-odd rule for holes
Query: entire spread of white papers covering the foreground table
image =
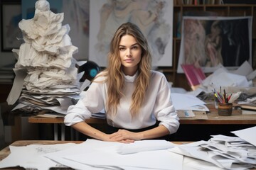
{"label": "entire spread of white papers covering the foreground table", "polygon": [[[0,168],[26,169],[250,169],[256,167],[256,127],[233,132],[238,137],[215,135],[209,141],[176,145],[165,140],[124,144],[88,139],[80,144],[10,146]],[[43,164],[42,164],[43,162]]]}

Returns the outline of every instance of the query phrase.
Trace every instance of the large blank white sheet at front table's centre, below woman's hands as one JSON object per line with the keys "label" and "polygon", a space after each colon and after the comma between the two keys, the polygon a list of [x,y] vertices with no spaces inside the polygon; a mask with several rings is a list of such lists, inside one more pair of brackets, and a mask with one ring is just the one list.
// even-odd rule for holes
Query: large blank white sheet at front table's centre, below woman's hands
{"label": "large blank white sheet at front table's centre, below woman's hands", "polygon": [[135,166],[148,169],[182,168],[181,157],[179,157],[178,154],[169,154],[166,149],[124,155],[114,152],[104,152],[98,149],[93,152],[65,156],[64,158],[74,162],[96,166]]}

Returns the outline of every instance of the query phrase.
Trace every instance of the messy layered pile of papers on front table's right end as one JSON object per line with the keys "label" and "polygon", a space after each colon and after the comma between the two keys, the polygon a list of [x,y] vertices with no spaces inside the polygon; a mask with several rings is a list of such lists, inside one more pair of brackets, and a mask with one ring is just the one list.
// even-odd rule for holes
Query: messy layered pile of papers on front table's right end
{"label": "messy layered pile of papers on front table's right end", "polygon": [[[169,151],[200,159],[221,169],[251,169],[256,167],[256,140],[252,135],[255,132],[256,127],[233,132],[239,137],[213,135],[209,141],[177,145]],[[203,168],[202,165],[201,168]],[[195,166],[195,164],[191,166]],[[208,165],[209,167],[210,165]]]}

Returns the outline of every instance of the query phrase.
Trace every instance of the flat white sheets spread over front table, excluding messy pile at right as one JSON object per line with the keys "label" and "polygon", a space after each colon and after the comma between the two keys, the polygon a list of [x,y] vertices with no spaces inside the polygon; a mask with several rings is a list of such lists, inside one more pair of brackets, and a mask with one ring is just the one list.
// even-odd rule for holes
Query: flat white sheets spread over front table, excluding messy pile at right
{"label": "flat white sheets spread over front table, excluding messy pile at right", "polygon": [[10,147],[11,154],[0,162],[0,168],[22,166],[45,170],[53,166],[69,166],[73,169],[95,170],[182,169],[183,156],[169,152],[167,149],[174,147],[174,144],[165,140],[122,144],[88,139],[78,145],[61,146]]}

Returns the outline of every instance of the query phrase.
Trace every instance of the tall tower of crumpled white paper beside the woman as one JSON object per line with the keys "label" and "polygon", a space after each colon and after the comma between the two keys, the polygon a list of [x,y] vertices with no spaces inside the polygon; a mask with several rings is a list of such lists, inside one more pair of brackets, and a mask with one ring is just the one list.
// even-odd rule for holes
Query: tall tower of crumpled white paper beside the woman
{"label": "tall tower of crumpled white paper beside the woman", "polygon": [[35,16],[18,23],[24,43],[17,55],[16,78],[7,99],[18,100],[16,108],[50,110],[65,113],[73,99],[79,98],[82,75],[78,75],[70,27],[63,26],[63,13],[53,13],[46,0],[38,0]]}

